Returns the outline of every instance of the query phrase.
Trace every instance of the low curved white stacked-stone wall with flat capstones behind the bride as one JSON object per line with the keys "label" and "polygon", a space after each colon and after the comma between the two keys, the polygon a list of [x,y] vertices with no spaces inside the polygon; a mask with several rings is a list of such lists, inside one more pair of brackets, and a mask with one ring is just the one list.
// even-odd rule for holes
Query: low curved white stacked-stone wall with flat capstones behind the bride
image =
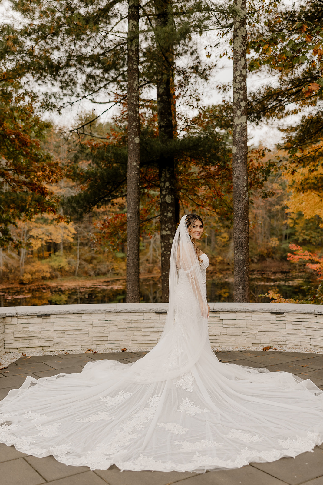
{"label": "low curved white stacked-stone wall with flat capstones behind the bride", "polygon": [[[210,307],[213,347],[323,348],[320,305],[210,303]],[[166,311],[167,304],[148,303],[0,308],[0,352],[152,348]]]}

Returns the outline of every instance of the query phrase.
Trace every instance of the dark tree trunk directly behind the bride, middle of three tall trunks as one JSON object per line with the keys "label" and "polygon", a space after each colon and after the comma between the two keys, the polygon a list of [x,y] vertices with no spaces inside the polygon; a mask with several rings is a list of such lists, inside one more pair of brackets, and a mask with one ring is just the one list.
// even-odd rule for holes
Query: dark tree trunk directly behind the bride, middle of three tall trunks
{"label": "dark tree trunk directly behind the bride, middle of three tall trunks", "polygon": [[[159,141],[167,146],[169,140],[174,138],[173,119],[175,107],[173,96],[173,48],[171,42],[165,45],[164,30],[169,28],[168,18],[169,0],[156,2],[157,20],[157,46],[160,65],[157,77],[157,115]],[[166,152],[166,150],[165,150]],[[176,231],[176,204],[175,204],[175,162],[172,154],[161,154],[158,160],[159,187],[160,187],[160,247],[161,247],[161,301],[168,302],[169,292],[169,262],[170,249]],[[178,214],[179,215],[179,214]]]}

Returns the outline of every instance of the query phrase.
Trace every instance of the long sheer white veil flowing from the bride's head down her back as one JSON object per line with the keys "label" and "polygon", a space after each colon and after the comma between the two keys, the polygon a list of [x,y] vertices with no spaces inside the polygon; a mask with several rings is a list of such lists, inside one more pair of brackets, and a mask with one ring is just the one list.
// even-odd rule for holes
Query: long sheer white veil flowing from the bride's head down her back
{"label": "long sheer white veil flowing from the bride's head down her back", "polygon": [[[124,373],[126,380],[147,383],[177,377],[195,364],[208,342],[205,283],[186,217],[182,217],[171,247],[169,308],[163,333],[145,359],[135,362],[132,372]],[[185,292],[180,290],[181,281]]]}

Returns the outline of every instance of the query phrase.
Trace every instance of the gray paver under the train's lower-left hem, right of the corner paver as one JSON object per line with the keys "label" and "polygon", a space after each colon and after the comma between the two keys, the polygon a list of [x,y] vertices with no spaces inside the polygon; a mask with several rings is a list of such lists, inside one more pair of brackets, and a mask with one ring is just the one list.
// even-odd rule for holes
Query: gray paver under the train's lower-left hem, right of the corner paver
{"label": "gray paver under the train's lower-left hem, right of the corner paver", "polygon": [[34,468],[40,475],[42,475],[47,482],[58,480],[59,478],[76,475],[82,471],[88,471],[88,467],[73,467],[72,465],[65,465],[55,460],[53,456],[45,456],[44,458],[37,458],[36,456],[27,456],[25,460]]}

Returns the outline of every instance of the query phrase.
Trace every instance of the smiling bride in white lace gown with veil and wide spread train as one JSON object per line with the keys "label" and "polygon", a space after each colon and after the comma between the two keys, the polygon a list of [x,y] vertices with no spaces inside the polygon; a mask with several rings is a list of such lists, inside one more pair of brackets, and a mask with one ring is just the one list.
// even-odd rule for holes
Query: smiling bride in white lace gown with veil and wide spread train
{"label": "smiling bride in white lace gown with veil and wide spread train", "polygon": [[151,352],[130,364],[26,378],[0,403],[0,442],[66,465],[122,470],[231,469],[323,441],[323,391],[288,372],[218,361],[208,338],[206,254],[196,214],[176,231],[169,310]]}

